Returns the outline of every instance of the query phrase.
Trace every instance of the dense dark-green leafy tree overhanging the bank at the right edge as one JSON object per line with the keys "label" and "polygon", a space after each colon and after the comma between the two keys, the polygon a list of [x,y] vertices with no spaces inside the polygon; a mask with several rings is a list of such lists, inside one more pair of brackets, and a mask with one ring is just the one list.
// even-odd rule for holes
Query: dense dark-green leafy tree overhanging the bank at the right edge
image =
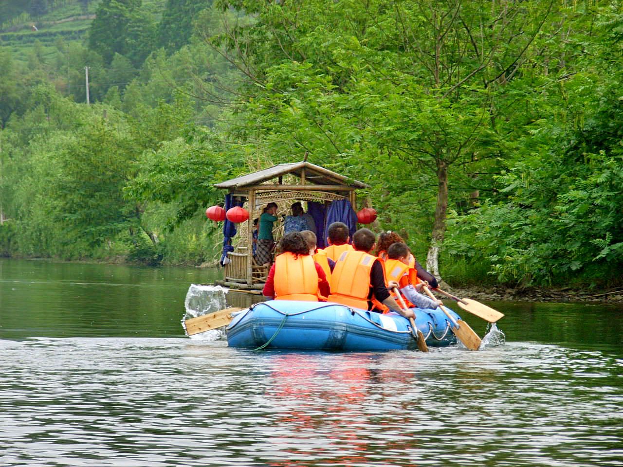
{"label": "dense dark-green leafy tree overhanging the bank at the right edge", "polygon": [[586,7],[559,19],[568,34],[548,37],[556,60],[526,77],[538,92],[509,87],[527,108],[508,120],[530,132],[516,138],[515,157],[497,177],[500,197],[453,220],[452,248],[482,252],[500,281],[620,283],[623,16]]}

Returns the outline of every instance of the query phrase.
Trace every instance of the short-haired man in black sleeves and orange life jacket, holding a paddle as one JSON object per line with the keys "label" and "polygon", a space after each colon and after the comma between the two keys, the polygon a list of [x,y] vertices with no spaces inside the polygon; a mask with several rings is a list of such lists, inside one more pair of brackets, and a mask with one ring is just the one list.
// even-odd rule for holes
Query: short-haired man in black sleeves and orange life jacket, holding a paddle
{"label": "short-haired man in black sleeves and orange life jacket, holding a paddle", "polygon": [[389,293],[388,286],[394,288],[398,283],[386,283],[382,260],[369,254],[374,249],[374,240],[374,234],[369,229],[359,229],[354,233],[354,250],[343,252],[335,262],[328,301],[378,313],[383,310],[375,308],[379,305],[374,303],[382,303],[405,318],[414,318],[413,311],[403,311]]}

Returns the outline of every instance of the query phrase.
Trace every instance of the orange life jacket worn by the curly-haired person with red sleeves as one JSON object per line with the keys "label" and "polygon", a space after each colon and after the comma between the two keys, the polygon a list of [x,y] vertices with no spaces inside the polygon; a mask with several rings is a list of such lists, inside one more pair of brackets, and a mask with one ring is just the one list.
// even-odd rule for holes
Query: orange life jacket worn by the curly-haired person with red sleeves
{"label": "orange life jacket worn by the curly-haired person with red sleeves", "polygon": [[318,301],[318,273],[312,257],[285,252],[275,258],[275,300]]}

